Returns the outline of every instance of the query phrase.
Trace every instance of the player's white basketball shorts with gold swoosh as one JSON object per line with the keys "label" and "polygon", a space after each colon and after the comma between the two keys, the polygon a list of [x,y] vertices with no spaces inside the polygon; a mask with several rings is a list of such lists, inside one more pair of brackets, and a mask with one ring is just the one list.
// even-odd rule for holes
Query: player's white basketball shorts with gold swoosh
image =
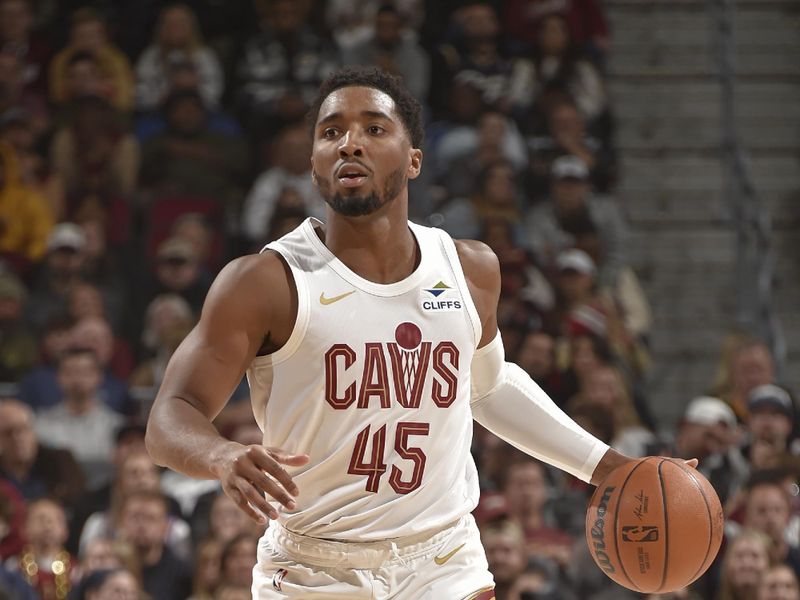
{"label": "player's white basketball shorts with gold swoosh", "polygon": [[253,569],[256,600],[490,600],[489,572],[472,515],[433,535],[335,542],[271,523]]}

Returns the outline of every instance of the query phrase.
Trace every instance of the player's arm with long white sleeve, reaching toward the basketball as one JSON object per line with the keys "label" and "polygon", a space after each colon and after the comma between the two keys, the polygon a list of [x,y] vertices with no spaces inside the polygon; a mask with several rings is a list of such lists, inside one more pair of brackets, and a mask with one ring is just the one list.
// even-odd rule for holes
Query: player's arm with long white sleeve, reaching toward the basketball
{"label": "player's arm with long white sleeve, reaching toward the basketball", "polygon": [[456,248],[482,327],[471,365],[475,420],[527,454],[594,485],[633,460],[581,428],[525,371],[505,361],[497,326],[497,257],[473,240],[457,240]]}

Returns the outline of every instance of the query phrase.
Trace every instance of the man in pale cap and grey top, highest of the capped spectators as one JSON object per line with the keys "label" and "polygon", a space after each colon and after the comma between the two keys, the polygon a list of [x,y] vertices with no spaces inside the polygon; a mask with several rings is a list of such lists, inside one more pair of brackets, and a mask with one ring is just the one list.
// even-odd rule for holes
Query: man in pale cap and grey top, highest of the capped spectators
{"label": "man in pale cap and grey top, highest of the capped spectators", "polygon": [[627,262],[627,226],[610,198],[592,195],[589,168],[577,156],[553,161],[550,199],[532,210],[525,221],[526,239],[542,265],[552,264],[558,253],[571,248],[586,230],[597,231],[603,264],[599,279],[611,284]]}

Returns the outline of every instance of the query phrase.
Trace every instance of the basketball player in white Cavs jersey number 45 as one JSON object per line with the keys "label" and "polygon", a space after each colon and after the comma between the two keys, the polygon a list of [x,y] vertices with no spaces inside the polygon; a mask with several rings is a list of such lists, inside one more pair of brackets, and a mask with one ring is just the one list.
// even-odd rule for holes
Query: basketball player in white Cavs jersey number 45
{"label": "basketball player in white Cavs jersey number 45", "polygon": [[[341,71],[311,117],[326,222],[222,270],[167,368],[147,447],[273,520],[255,598],[488,600],[473,419],[584,481],[630,459],[504,362],[491,250],[408,221],[423,132],[399,80]],[[245,372],[263,445],[212,424]]]}

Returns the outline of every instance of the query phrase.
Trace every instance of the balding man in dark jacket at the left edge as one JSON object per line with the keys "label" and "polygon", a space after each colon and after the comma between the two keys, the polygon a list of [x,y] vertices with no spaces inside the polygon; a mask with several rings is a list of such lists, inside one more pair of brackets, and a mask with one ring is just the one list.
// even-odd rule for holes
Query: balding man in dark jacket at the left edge
{"label": "balding man in dark jacket at the left edge", "polygon": [[86,478],[68,450],[39,441],[35,416],[18,400],[0,400],[0,478],[26,500],[51,498],[70,510],[84,493]]}

